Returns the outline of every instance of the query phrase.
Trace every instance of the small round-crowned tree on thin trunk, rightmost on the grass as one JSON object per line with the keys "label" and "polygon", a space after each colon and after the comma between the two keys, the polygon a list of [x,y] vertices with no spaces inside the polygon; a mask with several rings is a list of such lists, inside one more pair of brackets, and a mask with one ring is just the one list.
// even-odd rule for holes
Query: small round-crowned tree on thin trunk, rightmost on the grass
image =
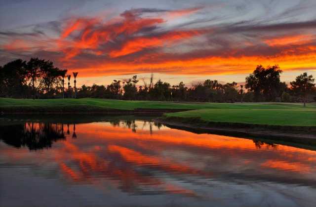
{"label": "small round-crowned tree on thin trunk, rightmost on the grass", "polygon": [[299,95],[303,99],[303,105],[306,106],[306,101],[309,93],[312,93],[315,90],[315,79],[312,75],[307,75],[303,73],[296,77],[295,81],[290,82],[291,90]]}

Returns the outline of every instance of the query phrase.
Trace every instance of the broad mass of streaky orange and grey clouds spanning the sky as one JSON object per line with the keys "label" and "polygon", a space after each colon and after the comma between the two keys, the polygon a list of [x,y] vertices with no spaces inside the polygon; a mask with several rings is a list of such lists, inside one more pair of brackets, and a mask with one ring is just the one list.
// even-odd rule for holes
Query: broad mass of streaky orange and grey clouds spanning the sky
{"label": "broad mass of streaky orange and grey clouds spanning the sky", "polygon": [[[50,27],[50,34],[57,35],[39,26],[28,32],[0,31],[0,53],[51,59],[81,77],[153,71],[238,74],[257,64],[316,69],[316,20],[240,21],[207,17],[207,8],[136,8],[116,16],[71,17]],[[285,13],[292,11],[297,12],[289,8]]]}

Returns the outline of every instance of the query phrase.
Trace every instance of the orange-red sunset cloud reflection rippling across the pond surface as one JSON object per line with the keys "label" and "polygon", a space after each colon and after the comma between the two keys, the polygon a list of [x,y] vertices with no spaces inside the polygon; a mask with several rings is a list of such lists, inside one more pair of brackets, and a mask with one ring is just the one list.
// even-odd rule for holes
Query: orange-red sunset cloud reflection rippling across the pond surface
{"label": "orange-red sunset cloud reflection rippling across the pond surface", "polygon": [[[23,141],[36,134],[30,136],[36,137],[33,141],[43,139],[37,144],[48,143],[52,148],[39,148],[41,151],[37,153],[3,151],[7,162],[56,163],[67,180],[78,184],[97,186],[103,180],[123,192],[141,193],[150,189],[156,193],[198,197],[190,185],[180,180],[203,183],[210,178],[251,177],[269,181],[260,175],[269,174],[278,179],[288,177],[291,172],[294,180],[316,182],[316,152],[291,146],[196,134],[143,121],[76,124],[76,127],[26,123],[23,128],[26,134]],[[77,138],[73,138],[73,133]]]}

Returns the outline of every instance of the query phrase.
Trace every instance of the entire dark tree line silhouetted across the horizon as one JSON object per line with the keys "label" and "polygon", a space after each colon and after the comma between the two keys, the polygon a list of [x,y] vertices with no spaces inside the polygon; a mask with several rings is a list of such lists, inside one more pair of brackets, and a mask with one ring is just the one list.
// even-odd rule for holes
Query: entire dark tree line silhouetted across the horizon
{"label": "entire dark tree line silhouetted across the horizon", "polygon": [[[220,83],[205,80],[187,87],[158,80],[149,83],[133,76],[114,80],[111,84],[82,85],[78,89],[64,87],[67,70],[61,70],[49,60],[17,59],[0,66],[0,96],[10,98],[63,98],[93,97],[123,100],[195,101],[195,102],[306,102],[316,100],[315,79],[303,73],[287,85],[280,82],[282,70],[277,65],[256,69],[245,78],[245,84]],[[78,73],[74,73],[76,78]],[[68,75],[70,80],[70,75]],[[76,86],[76,85],[75,85]],[[77,95],[77,96],[76,96]]]}

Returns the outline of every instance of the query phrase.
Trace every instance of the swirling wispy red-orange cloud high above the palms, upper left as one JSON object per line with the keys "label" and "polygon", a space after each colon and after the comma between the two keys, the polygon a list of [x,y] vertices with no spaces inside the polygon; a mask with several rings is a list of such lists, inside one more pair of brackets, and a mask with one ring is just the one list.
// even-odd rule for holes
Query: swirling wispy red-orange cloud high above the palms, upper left
{"label": "swirling wispy red-orange cloud high above the palms, upper left", "polygon": [[[97,18],[79,18],[67,24],[61,33],[59,48],[66,54],[62,60],[67,61],[78,55],[84,49],[94,50],[94,54],[100,55],[103,53],[98,50],[101,44],[115,40],[117,36],[122,33],[132,35],[142,28],[151,27],[162,22],[163,20],[160,18],[126,18],[121,22],[103,24]],[[79,31],[79,38],[72,41],[64,41],[64,39],[74,31]]]}

